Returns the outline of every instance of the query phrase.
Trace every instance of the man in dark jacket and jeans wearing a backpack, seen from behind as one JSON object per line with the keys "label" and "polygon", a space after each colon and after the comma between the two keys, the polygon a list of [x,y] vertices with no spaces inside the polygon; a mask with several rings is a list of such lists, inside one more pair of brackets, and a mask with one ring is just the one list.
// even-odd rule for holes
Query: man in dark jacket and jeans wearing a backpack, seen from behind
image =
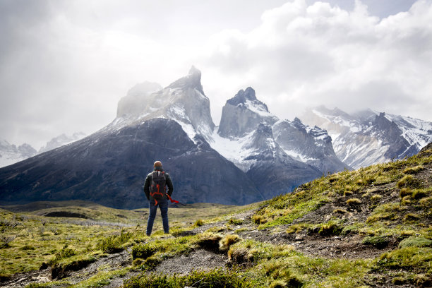
{"label": "man in dark jacket and jeans wearing a backpack, seen from behind", "polygon": [[[168,187],[168,191],[166,190]],[[152,234],[153,222],[155,222],[157,206],[160,208],[162,215],[162,224],[164,233],[169,233],[168,224],[168,199],[171,199],[174,187],[172,186],[171,177],[162,169],[162,162],[156,161],[153,165],[153,172],[145,178],[144,192],[150,202],[150,212],[147,222],[147,236]]]}

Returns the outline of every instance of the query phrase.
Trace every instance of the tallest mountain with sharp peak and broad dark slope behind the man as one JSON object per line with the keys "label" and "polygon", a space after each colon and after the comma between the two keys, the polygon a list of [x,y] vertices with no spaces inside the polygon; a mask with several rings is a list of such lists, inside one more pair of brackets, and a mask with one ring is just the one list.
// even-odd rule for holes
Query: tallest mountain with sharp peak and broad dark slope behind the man
{"label": "tallest mountain with sharp peak and broad dark slope behind the man", "polygon": [[0,169],[0,200],[145,207],[143,181],[155,160],[172,176],[173,198],[183,203],[264,200],[249,177],[205,140],[215,126],[200,75],[191,68],[188,76],[144,95],[142,111],[128,109],[124,100],[116,119],[100,131]]}

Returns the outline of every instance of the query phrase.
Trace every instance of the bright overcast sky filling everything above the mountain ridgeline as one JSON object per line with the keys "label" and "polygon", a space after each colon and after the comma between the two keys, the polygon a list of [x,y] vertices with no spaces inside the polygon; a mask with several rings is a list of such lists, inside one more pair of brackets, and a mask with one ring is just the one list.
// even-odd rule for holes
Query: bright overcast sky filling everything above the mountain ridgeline
{"label": "bright overcast sky filling everything above the mountain ridgeline", "polygon": [[215,124],[253,87],[308,106],[432,121],[432,0],[0,0],[0,138],[39,149],[109,124],[136,83],[194,65]]}

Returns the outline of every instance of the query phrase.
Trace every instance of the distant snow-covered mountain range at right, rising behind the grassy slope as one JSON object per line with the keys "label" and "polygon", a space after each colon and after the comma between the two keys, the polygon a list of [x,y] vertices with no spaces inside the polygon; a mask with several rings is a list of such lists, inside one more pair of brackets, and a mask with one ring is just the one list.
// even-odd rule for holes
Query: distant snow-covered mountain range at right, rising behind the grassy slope
{"label": "distant snow-covered mountain range at right, rising behind the grassy slope", "polygon": [[367,109],[347,114],[316,107],[302,116],[307,124],[325,128],[337,157],[353,168],[409,157],[432,141],[432,123]]}

